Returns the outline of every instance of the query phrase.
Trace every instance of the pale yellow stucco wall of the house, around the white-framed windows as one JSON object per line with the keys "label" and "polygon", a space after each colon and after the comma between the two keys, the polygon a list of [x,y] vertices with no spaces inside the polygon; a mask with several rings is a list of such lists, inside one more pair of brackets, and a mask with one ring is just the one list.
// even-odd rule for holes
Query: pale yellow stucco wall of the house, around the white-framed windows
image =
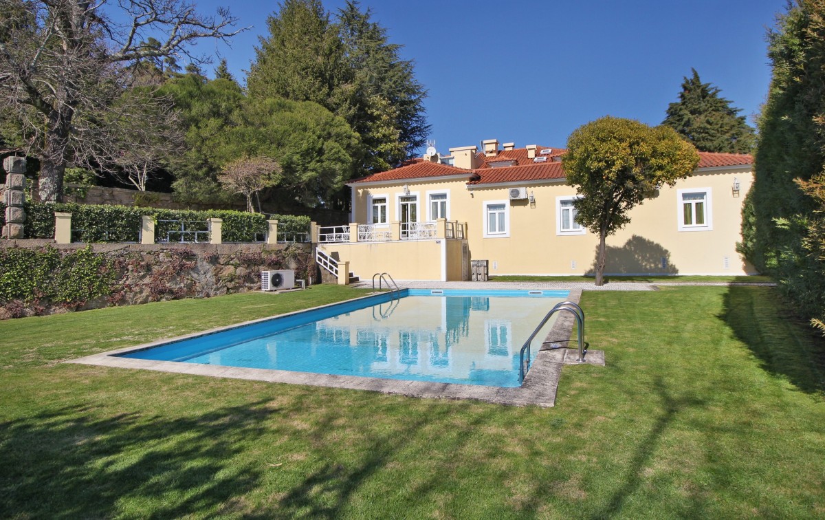
{"label": "pale yellow stucco wall of the house, around the white-framed windows", "polygon": [[[733,179],[738,179],[738,196],[733,194]],[[630,223],[615,235],[608,237],[607,274],[727,274],[742,275],[756,272],[736,252],[741,240],[742,202],[753,181],[750,168],[715,168],[697,171],[693,176],[662,187],[658,195],[637,206],[630,214]],[[356,185],[353,202],[356,221],[370,222],[370,196],[388,197],[388,220],[398,220],[398,196],[406,185],[410,195],[418,196],[418,219],[428,220],[428,193],[449,193],[448,220],[468,223],[469,258],[489,261],[491,275],[544,274],[581,275],[592,272],[596,259],[598,236],[586,234],[558,234],[558,197],[573,196],[575,189],[563,182],[521,182],[512,186],[481,187],[469,190],[463,178],[412,182],[410,180],[382,186]],[[535,201],[509,201],[508,190],[526,187]],[[707,230],[680,230],[678,215],[681,210],[679,190],[707,188],[710,194]],[[509,236],[484,237],[485,202],[505,201]],[[458,241],[455,241],[458,243]],[[460,247],[460,246],[457,246]],[[377,249],[375,250],[377,251]],[[390,253],[392,254],[392,253]],[[460,270],[460,259],[450,255],[448,271]],[[436,255],[428,262],[437,265]],[[662,267],[665,258],[666,267]],[[350,259],[350,258],[347,258]],[[392,257],[388,258],[388,260]],[[425,261],[418,256],[415,262]],[[397,260],[393,259],[394,262]],[[357,260],[351,259],[355,266]],[[390,262],[388,265],[392,265]],[[440,266],[438,266],[440,268]],[[357,268],[357,267],[356,267]],[[431,276],[430,267],[421,267],[422,278]],[[449,279],[460,279],[450,274]]]}

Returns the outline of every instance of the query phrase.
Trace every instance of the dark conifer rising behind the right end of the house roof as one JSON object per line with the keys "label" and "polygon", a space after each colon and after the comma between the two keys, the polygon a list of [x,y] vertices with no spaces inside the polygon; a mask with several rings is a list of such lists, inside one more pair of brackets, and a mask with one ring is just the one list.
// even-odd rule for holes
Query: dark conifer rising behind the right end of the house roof
{"label": "dark conifer rising behind the right end of the house roof", "polygon": [[742,111],[719,96],[718,87],[702,83],[699,73],[691,69],[693,76],[684,78],[679,101],[667,107],[667,117],[662,124],[676,130],[702,152],[727,152],[749,154],[756,145],[756,135],[745,122]]}

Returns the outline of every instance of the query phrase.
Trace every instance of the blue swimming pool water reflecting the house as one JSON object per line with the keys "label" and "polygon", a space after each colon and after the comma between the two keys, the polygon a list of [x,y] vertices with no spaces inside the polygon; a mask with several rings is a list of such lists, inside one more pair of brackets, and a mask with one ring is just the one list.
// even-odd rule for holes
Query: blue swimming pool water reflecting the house
{"label": "blue swimming pool water reflecting the house", "polygon": [[[519,386],[519,351],[568,291],[404,290],[280,316],[123,357]],[[536,341],[552,327],[544,326]],[[533,348],[534,353],[538,348]]]}

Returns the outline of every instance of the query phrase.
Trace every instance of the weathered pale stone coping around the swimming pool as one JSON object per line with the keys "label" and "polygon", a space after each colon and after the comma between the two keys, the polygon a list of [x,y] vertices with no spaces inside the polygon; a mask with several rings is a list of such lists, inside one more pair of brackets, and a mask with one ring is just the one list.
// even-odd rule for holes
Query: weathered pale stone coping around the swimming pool
{"label": "weathered pale stone coping around the swimming pool", "polygon": [[[570,290],[568,300],[578,303],[582,296],[581,289]],[[365,300],[374,295],[361,296],[347,302]],[[339,305],[336,302],[329,305],[319,305],[311,309],[295,311],[294,313],[280,314],[288,316],[291,314],[303,313],[309,310],[318,310],[331,305]],[[329,388],[342,388],[347,390],[370,390],[384,394],[406,395],[409,397],[427,399],[475,399],[495,404],[507,404],[515,406],[526,406],[534,404],[540,407],[549,408],[554,406],[556,392],[559,387],[559,377],[562,366],[565,364],[579,364],[577,361],[577,350],[568,347],[559,347],[570,340],[573,333],[574,319],[572,314],[559,314],[552,329],[542,342],[540,351],[536,354],[535,361],[530,366],[530,371],[525,376],[524,383],[517,387],[498,387],[482,385],[461,385],[455,383],[437,383],[428,381],[403,381],[394,379],[381,379],[378,377],[365,376],[335,376],[331,374],[315,374],[312,372],[282,371],[263,368],[243,368],[236,366],[215,366],[201,365],[197,363],[181,363],[137,359],[131,357],[120,357],[126,352],[136,352],[152,347],[158,347],[170,342],[181,341],[188,338],[197,338],[207,333],[218,333],[223,330],[237,329],[251,324],[271,320],[272,317],[253,319],[241,324],[232,324],[225,327],[186,334],[177,338],[165,338],[152,343],[144,343],[134,347],[124,347],[107,352],[99,352],[92,356],[80,357],[66,361],[66,363],[77,363],[83,365],[109,366],[115,368],[143,369],[152,371],[163,371],[177,374],[189,374],[195,376],[227,377],[232,379],[244,379],[252,381],[266,381],[272,383],[285,383],[289,385],[309,385],[325,386]],[[589,351],[585,356],[583,364],[604,366],[604,352]]]}

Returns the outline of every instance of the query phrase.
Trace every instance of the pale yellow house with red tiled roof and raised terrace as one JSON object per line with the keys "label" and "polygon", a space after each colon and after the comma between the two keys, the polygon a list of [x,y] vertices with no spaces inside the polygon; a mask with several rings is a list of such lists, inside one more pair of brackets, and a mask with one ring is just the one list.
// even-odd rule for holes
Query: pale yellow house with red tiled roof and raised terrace
{"label": "pale yellow house with red tiled roof and raised terrace", "polygon": [[[316,229],[319,263],[362,278],[469,279],[470,260],[489,274],[593,272],[598,236],[577,225],[565,183],[565,150],[496,139],[450,149],[347,184],[351,224]],[[662,187],[607,239],[606,274],[745,275],[756,270],[736,252],[742,203],[753,182],[744,154],[700,153],[699,167]],[[330,265],[333,264],[333,265]]]}

